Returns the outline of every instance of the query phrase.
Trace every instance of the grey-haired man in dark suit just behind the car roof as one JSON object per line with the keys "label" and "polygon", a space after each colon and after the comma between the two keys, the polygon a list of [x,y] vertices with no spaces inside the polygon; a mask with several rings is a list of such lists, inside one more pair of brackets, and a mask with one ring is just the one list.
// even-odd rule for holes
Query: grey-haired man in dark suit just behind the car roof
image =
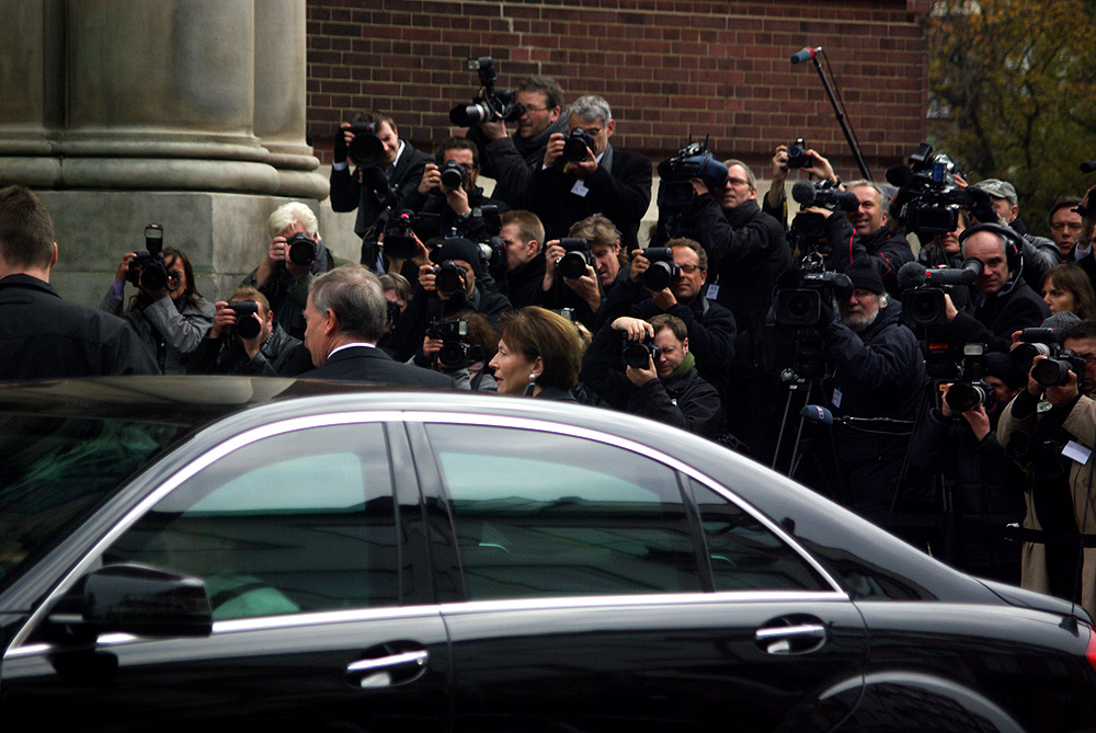
{"label": "grey-haired man in dark suit just behind the car roof", "polygon": [[387,318],[380,280],[366,267],[343,265],[318,277],[305,306],[305,347],[317,368],[301,377],[453,388],[445,375],[377,348]]}

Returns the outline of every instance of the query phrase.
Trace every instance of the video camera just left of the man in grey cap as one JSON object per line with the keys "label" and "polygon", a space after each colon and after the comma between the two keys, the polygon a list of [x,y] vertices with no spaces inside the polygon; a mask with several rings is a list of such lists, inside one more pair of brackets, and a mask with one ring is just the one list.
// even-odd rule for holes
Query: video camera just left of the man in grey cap
{"label": "video camera just left of the man in grey cap", "polygon": [[924,242],[954,231],[959,209],[971,207],[970,194],[956,185],[955,161],[922,142],[909,163],[887,170],[887,181],[901,188],[891,207],[899,222]]}

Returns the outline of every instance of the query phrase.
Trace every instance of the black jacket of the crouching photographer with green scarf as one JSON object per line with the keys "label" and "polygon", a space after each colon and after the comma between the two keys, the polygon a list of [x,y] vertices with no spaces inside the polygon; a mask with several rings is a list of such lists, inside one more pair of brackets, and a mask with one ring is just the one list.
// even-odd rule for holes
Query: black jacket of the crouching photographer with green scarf
{"label": "black jacket of the crouching photographer with green scarf", "polygon": [[606,324],[582,358],[579,381],[617,410],[715,438],[722,431],[723,408],[716,388],[693,369],[676,379],[652,379],[637,387],[624,374],[623,334]]}

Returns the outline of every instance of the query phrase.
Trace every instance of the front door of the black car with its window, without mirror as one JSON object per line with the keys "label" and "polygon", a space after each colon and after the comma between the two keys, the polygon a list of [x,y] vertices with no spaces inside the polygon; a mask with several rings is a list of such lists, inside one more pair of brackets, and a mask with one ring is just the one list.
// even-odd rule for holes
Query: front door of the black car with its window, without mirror
{"label": "front door of the black car with its window, without mirror", "polygon": [[[386,433],[367,419],[267,425],[175,474],[87,549],[7,650],[3,720],[82,731],[445,729],[447,639],[429,569],[412,566],[425,553],[418,486],[403,431],[390,445]],[[50,608],[72,606],[81,579],[112,565],[201,579],[213,632],[58,641]]]}

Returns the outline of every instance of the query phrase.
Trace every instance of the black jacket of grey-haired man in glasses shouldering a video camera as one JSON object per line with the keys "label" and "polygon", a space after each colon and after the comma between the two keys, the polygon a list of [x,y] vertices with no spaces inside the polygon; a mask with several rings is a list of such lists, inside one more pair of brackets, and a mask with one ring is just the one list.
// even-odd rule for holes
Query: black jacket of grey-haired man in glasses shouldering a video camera
{"label": "black jacket of grey-haired man in glasses shouldering a video camera", "polygon": [[[711,194],[697,197],[696,217],[708,253],[708,280],[719,288],[713,299],[734,314],[738,325],[734,368],[741,374],[769,371],[776,346],[765,318],[777,277],[791,266],[784,228],[755,202],[724,211]],[[709,285],[709,297],[711,289]]]}

